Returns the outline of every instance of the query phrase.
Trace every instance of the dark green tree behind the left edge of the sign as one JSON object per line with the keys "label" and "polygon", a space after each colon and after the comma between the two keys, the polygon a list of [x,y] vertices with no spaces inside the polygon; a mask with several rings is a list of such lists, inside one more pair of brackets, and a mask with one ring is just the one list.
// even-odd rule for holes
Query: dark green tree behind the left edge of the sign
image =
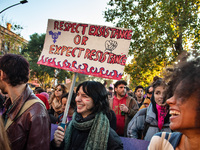
{"label": "dark green tree behind the left edge of the sign", "polygon": [[38,65],[37,61],[41,54],[44,45],[45,34],[33,34],[30,36],[30,41],[26,49],[22,51],[22,54],[27,58],[30,64],[31,79],[37,78],[40,84],[44,88],[45,85],[51,84],[53,78],[57,78],[59,82],[65,80],[65,77],[70,78],[72,73],[57,69],[58,74],[55,76],[55,68]]}

